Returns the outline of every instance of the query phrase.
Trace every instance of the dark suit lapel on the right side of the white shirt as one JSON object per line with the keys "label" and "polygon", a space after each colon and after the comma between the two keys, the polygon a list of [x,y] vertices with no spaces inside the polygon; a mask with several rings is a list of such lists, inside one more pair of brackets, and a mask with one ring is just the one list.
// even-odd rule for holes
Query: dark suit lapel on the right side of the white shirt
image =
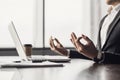
{"label": "dark suit lapel on the right side of the white shirt", "polygon": [[105,41],[105,44],[103,45],[103,49],[116,25],[116,23],[119,21],[120,19],[120,11],[117,13],[116,17],[114,18],[113,22],[110,24],[109,28],[108,28],[108,32],[107,32],[107,35],[106,35],[106,41]]}

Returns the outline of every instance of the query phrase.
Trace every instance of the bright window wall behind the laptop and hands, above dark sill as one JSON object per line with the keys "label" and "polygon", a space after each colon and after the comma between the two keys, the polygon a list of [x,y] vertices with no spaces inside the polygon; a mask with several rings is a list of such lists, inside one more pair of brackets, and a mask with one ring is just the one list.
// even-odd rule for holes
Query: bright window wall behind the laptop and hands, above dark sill
{"label": "bright window wall behind the laptop and hands, above dark sill", "polygon": [[13,21],[22,44],[49,47],[50,36],[65,47],[73,47],[71,32],[87,35],[96,44],[105,0],[0,0],[0,48],[15,48],[8,31]]}

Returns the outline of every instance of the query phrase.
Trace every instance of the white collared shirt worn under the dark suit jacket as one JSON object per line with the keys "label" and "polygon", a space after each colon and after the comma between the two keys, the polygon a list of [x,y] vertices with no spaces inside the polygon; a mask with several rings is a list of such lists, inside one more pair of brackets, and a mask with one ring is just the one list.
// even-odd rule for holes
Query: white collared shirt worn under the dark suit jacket
{"label": "white collared shirt worn under the dark suit jacket", "polygon": [[112,11],[108,14],[108,16],[105,18],[105,20],[103,22],[103,25],[101,28],[101,33],[100,33],[101,47],[103,47],[103,45],[106,41],[106,35],[107,35],[108,28],[109,28],[110,24],[112,23],[112,21],[114,20],[117,13],[119,12],[119,10],[120,10],[120,4],[113,7]]}

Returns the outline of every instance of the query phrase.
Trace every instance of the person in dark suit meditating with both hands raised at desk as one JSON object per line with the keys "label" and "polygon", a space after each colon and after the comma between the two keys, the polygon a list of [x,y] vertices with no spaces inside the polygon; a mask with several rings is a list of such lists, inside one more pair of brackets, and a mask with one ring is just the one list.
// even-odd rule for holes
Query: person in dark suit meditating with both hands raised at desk
{"label": "person in dark suit meditating with both hands raised at desk", "polygon": [[[77,37],[71,33],[71,42],[77,51],[68,51],[58,39],[50,38],[51,50],[71,58],[94,60],[96,63],[120,63],[120,0],[106,0],[111,5],[109,13],[100,22],[97,46],[85,35]],[[83,39],[87,43],[83,44]],[[54,44],[57,42],[57,45]]]}

